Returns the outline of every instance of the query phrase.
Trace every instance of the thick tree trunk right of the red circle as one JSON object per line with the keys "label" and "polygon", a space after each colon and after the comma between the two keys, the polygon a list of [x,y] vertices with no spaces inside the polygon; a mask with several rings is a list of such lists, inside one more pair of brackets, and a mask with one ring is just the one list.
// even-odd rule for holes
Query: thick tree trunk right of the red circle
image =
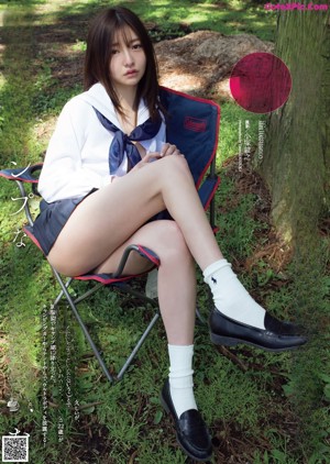
{"label": "thick tree trunk right of the red circle", "polygon": [[292,244],[316,233],[329,208],[328,18],[322,11],[280,11],[277,22],[275,54],[288,66],[293,89],[270,115],[260,172],[271,189],[274,225]]}

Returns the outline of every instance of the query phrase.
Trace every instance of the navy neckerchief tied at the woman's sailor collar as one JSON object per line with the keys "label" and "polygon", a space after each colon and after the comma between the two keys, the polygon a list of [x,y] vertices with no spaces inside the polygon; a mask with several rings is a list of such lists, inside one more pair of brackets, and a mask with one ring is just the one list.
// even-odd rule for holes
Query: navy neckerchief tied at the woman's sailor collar
{"label": "navy neckerchief tied at the woman's sailor collar", "polygon": [[138,125],[130,135],[122,132],[121,129],[118,129],[111,121],[109,121],[102,113],[100,113],[95,107],[92,107],[100,123],[110,132],[114,132],[113,140],[109,148],[109,170],[110,174],[116,174],[117,169],[121,165],[124,152],[127,152],[129,159],[129,169],[131,169],[135,164],[141,161],[139,150],[132,142],[140,142],[144,140],[153,139],[157,135],[162,118],[157,118],[156,121],[152,121],[148,118],[143,124]]}

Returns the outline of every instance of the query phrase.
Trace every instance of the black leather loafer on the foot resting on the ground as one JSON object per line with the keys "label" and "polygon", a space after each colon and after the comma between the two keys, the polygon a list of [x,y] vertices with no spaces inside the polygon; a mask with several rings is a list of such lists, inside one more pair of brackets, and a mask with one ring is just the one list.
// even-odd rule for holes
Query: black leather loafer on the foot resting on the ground
{"label": "black leather loafer on the foot resting on the ground", "polygon": [[189,409],[179,418],[177,417],[170,398],[168,379],[164,384],[161,401],[166,412],[170,413],[174,419],[176,438],[184,452],[195,461],[209,460],[212,455],[212,443],[200,412]]}

